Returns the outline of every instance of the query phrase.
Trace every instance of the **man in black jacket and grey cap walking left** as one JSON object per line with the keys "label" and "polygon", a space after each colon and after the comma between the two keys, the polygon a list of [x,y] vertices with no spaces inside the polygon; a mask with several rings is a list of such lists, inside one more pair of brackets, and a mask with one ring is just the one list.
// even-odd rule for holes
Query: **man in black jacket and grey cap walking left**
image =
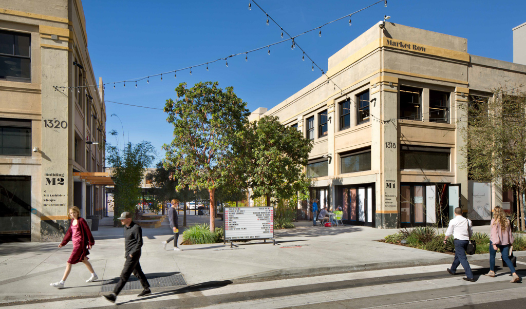
{"label": "man in black jacket and grey cap walking left", "polygon": [[126,282],[133,273],[136,277],[139,278],[140,284],[143,285],[143,292],[140,292],[139,297],[150,295],[150,284],[146,279],[143,270],[140,268],[140,248],[143,246],[143,230],[140,228],[140,225],[133,222],[131,219],[131,213],[125,211],[120,214],[120,223],[124,225],[124,241],[125,241],[125,258],[124,269],[120,273],[120,280],[115,286],[112,294],[103,295],[108,301],[115,303],[117,300],[117,295],[119,295],[120,290],[123,289]]}

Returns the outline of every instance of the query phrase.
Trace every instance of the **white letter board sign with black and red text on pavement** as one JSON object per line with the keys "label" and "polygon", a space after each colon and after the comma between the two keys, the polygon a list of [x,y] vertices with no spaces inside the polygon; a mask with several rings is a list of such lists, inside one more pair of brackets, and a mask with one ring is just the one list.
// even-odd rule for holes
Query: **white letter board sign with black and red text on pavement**
{"label": "white letter board sign with black and red text on pavement", "polygon": [[225,207],[225,241],[274,238],[274,208]]}

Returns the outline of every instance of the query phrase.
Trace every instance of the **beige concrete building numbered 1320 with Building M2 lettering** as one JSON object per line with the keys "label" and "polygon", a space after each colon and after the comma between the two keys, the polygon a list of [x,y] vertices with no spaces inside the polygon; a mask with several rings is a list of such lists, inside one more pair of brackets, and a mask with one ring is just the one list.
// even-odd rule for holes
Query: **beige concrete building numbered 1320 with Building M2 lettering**
{"label": "beige concrete building numbered 1320 with Building M2 lettering", "polygon": [[104,169],[104,89],[87,47],[80,0],[0,0],[0,237],[57,241],[69,206],[102,214],[104,187],[74,177]]}

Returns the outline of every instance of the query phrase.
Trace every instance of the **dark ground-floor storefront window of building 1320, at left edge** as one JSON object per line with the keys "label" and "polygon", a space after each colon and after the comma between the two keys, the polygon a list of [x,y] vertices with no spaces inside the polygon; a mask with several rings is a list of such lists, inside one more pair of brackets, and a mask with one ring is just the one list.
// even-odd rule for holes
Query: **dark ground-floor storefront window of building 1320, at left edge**
{"label": "dark ground-floor storefront window of building 1320, at left edge", "polygon": [[0,235],[31,233],[31,177],[0,177]]}

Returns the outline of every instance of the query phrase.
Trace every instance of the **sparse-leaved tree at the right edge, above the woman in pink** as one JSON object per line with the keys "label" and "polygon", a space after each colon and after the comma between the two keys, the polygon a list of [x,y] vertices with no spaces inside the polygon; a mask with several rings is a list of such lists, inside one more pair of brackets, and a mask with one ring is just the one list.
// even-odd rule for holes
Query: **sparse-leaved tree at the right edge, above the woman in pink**
{"label": "sparse-leaved tree at the right edge, above the woman in pink", "polygon": [[464,167],[470,178],[517,190],[518,226],[524,230],[526,92],[517,88],[499,87],[492,90],[490,98],[472,97],[462,106],[469,117],[460,132],[465,141],[461,151],[468,158]]}

